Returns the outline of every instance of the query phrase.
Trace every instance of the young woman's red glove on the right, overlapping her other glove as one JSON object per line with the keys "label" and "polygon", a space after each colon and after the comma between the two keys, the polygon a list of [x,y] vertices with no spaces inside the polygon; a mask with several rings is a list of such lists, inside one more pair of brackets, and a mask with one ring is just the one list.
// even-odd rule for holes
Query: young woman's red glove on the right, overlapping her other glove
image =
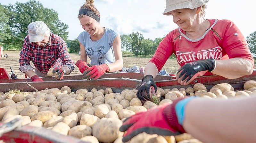
{"label": "young woman's red glove on the right, overlapping her other glove", "polygon": [[87,64],[90,68],[87,68],[83,73],[87,80],[97,80],[104,73],[109,72],[109,67],[107,64],[103,65],[91,65]]}

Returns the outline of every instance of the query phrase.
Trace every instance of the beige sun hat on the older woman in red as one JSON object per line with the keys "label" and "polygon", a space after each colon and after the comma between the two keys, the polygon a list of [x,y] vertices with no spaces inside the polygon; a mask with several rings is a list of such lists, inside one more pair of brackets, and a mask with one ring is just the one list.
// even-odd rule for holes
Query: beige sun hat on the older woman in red
{"label": "beige sun hat on the older woman in red", "polygon": [[206,4],[209,0],[166,0],[166,9],[164,15],[169,15],[168,12],[178,9],[194,9]]}

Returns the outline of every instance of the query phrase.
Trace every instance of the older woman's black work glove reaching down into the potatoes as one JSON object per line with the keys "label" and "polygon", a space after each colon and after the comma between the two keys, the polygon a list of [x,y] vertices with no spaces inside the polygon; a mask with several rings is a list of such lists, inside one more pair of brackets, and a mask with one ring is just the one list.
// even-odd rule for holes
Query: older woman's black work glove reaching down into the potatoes
{"label": "older woman's black work glove reaching down into the potatoes", "polygon": [[141,102],[152,101],[152,94],[156,95],[156,84],[153,80],[152,75],[146,75],[141,80],[142,83],[137,92],[137,97],[141,100]]}

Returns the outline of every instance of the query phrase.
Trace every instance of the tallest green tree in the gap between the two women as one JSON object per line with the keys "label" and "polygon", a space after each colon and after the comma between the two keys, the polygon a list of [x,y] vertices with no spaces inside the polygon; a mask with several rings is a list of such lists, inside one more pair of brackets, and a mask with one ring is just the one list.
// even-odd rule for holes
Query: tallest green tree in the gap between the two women
{"label": "tallest green tree in the gap between the two women", "polygon": [[131,52],[135,56],[138,56],[139,54],[142,53],[141,43],[144,37],[142,33],[139,33],[139,32],[136,32],[136,33],[132,32],[131,34],[129,34],[129,36],[131,37]]}

